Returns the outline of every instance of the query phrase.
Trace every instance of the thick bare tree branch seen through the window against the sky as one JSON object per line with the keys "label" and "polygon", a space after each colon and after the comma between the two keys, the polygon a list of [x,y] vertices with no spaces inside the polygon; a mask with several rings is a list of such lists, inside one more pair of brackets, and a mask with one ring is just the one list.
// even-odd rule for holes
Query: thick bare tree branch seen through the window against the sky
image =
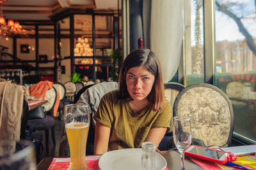
{"label": "thick bare tree branch seen through the window against the sky", "polygon": [[[256,0],[255,0],[255,3],[256,3]],[[234,19],[237,26],[239,27],[239,31],[245,36],[248,47],[250,48],[250,50],[252,50],[253,54],[256,56],[256,45],[253,41],[252,35],[250,35],[250,33],[244,27],[243,23],[241,22],[241,19],[239,19],[234,13],[230,12],[230,10],[228,10],[225,4],[220,4],[216,1],[216,6],[218,6],[218,10],[228,15],[228,17]]]}

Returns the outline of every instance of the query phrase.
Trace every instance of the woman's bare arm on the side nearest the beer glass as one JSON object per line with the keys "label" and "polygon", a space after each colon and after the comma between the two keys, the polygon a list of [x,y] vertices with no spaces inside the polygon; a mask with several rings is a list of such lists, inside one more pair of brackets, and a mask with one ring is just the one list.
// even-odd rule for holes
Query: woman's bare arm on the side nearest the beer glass
{"label": "woman's bare arm on the side nearest the beer glass", "polygon": [[102,155],[108,151],[110,128],[99,121],[95,125],[94,155]]}

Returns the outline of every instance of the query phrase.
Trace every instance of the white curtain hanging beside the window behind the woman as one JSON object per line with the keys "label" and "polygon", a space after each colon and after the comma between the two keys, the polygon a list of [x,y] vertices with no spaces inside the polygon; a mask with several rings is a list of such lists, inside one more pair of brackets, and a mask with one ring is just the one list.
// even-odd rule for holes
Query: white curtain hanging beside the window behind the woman
{"label": "white curtain hanging beside the window behind the woman", "polygon": [[188,0],[152,0],[151,3],[150,48],[160,60],[163,82],[172,80],[179,67],[186,23],[184,1]]}

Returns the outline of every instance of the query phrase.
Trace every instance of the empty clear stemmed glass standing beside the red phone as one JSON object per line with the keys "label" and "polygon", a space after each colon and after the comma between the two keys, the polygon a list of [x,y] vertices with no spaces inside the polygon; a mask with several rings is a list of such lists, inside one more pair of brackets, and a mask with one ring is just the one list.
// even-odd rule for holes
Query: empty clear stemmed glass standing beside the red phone
{"label": "empty clear stemmed glass standing beside the red phone", "polygon": [[173,118],[173,141],[180,152],[181,169],[184,169],[185,150],[191,144],[190,118],[182,116],[175,116]]}

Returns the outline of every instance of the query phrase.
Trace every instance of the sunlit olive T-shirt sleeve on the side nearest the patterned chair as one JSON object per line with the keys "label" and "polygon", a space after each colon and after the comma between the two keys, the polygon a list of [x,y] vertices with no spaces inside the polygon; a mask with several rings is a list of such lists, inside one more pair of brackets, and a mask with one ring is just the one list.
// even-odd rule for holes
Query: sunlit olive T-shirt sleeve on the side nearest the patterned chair
{"label": "sunlit olive T-shirt sleeve on the side nearest the patterned chair", "polygon": [[166,132],[168,132],[170,130],[170,121],[172,119],[172,114],[172,105],[166,100],[164,107],[159,111],[157,119],[152,125],[152,128],[166,127]]}

